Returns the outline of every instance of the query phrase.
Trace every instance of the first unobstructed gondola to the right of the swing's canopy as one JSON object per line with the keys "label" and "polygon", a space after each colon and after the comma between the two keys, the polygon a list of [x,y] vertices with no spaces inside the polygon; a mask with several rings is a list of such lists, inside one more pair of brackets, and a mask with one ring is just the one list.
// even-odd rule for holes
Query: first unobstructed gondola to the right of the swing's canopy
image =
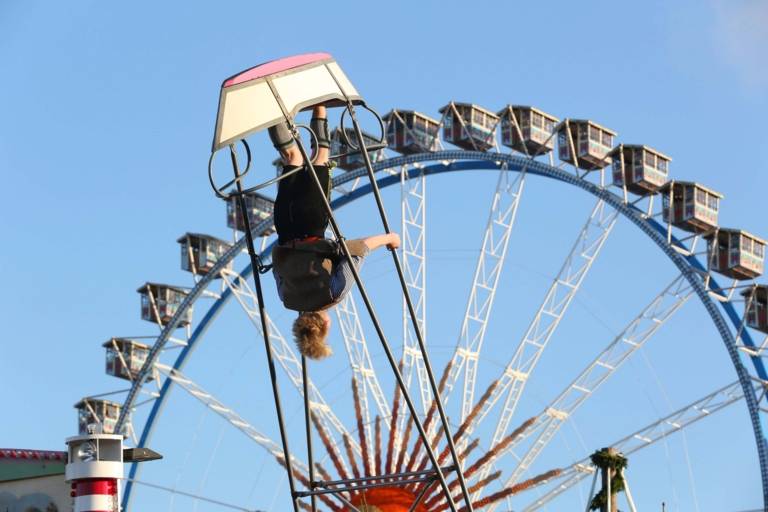
{"label": "first unobstructed gondola to the right of the swing's canopy", "polygon": [[440,122],[413,110],[392,110],[383,117],[387,146],[403,155],[437,151]]}

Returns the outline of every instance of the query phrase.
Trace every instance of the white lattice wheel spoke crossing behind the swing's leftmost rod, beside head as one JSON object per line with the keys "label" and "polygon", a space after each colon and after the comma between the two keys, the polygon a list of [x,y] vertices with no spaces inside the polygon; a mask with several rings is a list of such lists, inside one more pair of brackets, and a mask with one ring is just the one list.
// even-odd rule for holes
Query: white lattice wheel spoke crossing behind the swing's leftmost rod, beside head
{"label": "white lattice wheel spoke crossing behind the swing's leftmost rod, beside head", "polygon": [[[234,295],[237,301],[240,303],[251,322],[260,328],[258,299],[248,284],[248,281],[231,270],[222,271],[221,278],[225,285],[232,291],[232,295]],[[294,353],[293,348],[291,348],[291,346],[285,341],[285,338],[283,338],[277,326],[269,317],[267,317],[267,327],[269,330],[270,345],[272,346],[275,359],[280,363],[280,366],[288,375],[288,378],[291,380],[291,383],[293,383],[294,387],[298,390],[300,396],[303,396],[304,389],[301,378],[301,363],[299,358]],[[308,383],[308,386],[310,392],[309,404],[312,411],[316,414],[320,424],[325,428],[327,432],[331,432],[333,430],[336,431],[339,436],[349,436],[352,449],[356,454],[361,456],[362,450],[360,449],[360,445],[355,441],[355,438],[349,433],[344,424],[333,412],[333,409],[331,409],[331,407],[325,401],[325,398],[323,398],[323,395],[320,393],[320,390],[317,389],[317,386],[315,386],[312,381]],[[332,429],[329,428],[329,426],[332,427]],[[329,438],[334,448],[338,448],[336,436],[330,435]],[[344,464],[343,460],[342,464]]]}

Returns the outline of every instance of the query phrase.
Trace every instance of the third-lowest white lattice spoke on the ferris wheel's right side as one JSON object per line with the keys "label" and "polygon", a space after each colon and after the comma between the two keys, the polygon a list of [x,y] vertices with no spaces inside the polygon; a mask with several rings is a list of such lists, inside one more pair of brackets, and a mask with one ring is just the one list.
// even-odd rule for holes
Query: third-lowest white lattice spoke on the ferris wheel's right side
{"label": "third-lowest white lattice spoke on the ferris wheel's right side", "polygon": [[[602,199],[597,201],[560,273],[549,288],[544,302],[499,378],[498,385],[480,412],[475,426],[485,419],[501,396],[506,394],[491,445],[498,444],[507,434],[512,415],[531,372],[597,259],[603,244],[616,224],[617,216],[618,212],[609,210]],[[470,429],[473,428],[474,426],[471,425]]]}

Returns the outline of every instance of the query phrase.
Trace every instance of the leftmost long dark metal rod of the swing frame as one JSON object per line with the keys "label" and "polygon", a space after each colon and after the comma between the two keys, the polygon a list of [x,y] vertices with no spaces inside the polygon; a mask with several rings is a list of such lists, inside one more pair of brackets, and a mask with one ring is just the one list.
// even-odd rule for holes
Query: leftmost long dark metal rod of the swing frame
{"label": "leftmost long dark metal rod of the swing frame", "polygon": [[277,372],[275,371],[275,361],[272,357],[272,345],[269,343],[269,330],[267,327],[267,314],[264,310],[264,295],[261,290],[261,274],[259,273],[259,259],[256,256],[256,248],[253,245],[253,233],[251,233],[251,221],[248,218],[248,211],[245,208],[245,198],[242,191],[243,186],[240,178],[240,169],[237,164],[237,154],[235,146],[230,144],[229,156],[232,160],[232,170],[235,173],[237,185],[237,204],[240,207],[240,215],[243,219],[243,228],[245,229],[245,241],[248,245],[248,256],[251,258],[251,267],[253,268],[253,283],[256,286],[256,298],[259,301],[259,317],[261,319],[261,331],[264,336],[264,350],[267,353],[267,363],[269,365],[269,378],[272,384],[272,396],[275,401],[275,410],[277,412],[277,425],[280,428],[280,441],[283,445],[283,458],[285,460],[285,469],[288,473],[288,486],[291,489],[291,503],[293,503],[294,512],[299,512],[299,501],[296,497],[296,482],[293,476],[293,464],[291,462],[291,453],[288,449],[288,436],[285,432],[285,422],[283,421],[283,408],[280,405],[280,390],[277,384]]}

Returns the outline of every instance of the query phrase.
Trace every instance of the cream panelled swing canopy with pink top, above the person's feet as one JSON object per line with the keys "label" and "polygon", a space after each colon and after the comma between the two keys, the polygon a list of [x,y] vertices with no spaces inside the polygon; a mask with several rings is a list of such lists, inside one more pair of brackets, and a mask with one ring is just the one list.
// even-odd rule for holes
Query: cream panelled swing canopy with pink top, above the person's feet
{"label": "cream panelled swing canopy with pink top, above the person's feet", "polygon": [[362,101],[328,53],[306,53],[265,62],[222,83],[212,151],[314,105],[339,106]]}

